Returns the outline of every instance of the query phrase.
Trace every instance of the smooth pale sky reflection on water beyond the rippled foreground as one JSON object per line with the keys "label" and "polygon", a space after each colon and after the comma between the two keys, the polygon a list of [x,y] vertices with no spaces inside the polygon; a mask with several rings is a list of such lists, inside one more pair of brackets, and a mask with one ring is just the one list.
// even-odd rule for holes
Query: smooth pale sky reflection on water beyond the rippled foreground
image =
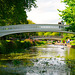
{"label": "smooth pale sky reflection on water beyond the rippled foreground", "polygon": [[38,48],[39,57],[62,57],[65,56],[65,46],[47,45],[47,48]]}

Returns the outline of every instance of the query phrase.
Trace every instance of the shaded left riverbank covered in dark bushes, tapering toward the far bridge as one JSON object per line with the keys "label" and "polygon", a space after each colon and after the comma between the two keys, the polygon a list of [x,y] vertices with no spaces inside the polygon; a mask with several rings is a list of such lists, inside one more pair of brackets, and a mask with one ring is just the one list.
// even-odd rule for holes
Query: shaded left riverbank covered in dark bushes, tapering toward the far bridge
{"label": "shaded left riverbank covered in dark bushes, tapering toward the far bridge", "polygon": [[20,40],[0,40],[0,54],[25,52],[31,46],[46,44],[46,41],[33,41],[31,39]]}

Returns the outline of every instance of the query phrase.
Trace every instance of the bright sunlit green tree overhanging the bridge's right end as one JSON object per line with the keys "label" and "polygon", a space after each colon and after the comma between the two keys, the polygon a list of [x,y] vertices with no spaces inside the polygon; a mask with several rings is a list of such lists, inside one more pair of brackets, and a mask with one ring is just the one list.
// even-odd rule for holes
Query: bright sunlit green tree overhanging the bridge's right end
{"label": "bright sunlit green tree overhanging the bridge's right end", "polygon": [[66,24],[70,25],[67,30],[75,31],[75,0],[62,0],[66,4],[65,10],[61,11],[60,17],[66,22]]}

